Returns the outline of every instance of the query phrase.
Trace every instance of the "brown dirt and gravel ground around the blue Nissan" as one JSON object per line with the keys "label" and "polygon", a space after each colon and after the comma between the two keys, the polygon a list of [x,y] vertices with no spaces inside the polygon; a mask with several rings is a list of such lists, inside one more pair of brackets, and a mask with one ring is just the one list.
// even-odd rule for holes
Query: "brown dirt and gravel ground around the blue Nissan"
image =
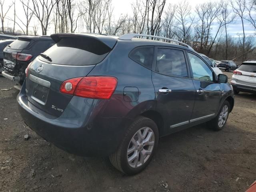
{"label": "brown dirt and gravel ground around the blue Nissan", "polygon": [[[0,89],[13,85],[0,78]],[[204,124],[161,138],[136,176],[118,172],[108,158],[74,156],[40,138],[20,117],[17,94],[0,91],[1,192],[244,192],[256,180],[255,94],[236,96],[222,131]]]}

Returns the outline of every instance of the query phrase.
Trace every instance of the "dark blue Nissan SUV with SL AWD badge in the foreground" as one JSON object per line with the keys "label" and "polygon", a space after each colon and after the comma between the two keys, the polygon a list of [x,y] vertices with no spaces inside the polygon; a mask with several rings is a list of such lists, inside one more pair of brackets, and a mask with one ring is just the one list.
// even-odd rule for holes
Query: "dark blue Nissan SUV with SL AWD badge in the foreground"
{"label": "dark blue Nissan SUV with SL AWD badge in the foreground", "polygon": [[125,174],[150,163],[159,137],[208,121],[221,130],[234,106],[228,77],[182,42],[136,36],[162,38],[52,34],[17,97],[26,124],[70,153],[110,156]]}

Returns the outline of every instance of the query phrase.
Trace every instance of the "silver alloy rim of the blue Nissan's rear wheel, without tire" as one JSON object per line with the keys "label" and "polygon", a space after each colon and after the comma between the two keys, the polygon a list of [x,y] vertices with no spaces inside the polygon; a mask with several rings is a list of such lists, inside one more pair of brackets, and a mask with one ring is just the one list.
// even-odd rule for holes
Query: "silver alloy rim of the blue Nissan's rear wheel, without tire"
{"label": "silver alloy rim of the blue Nissan's rear wheel, without tire", "polygon": [[154,132],[149,127],[138,130],[127,148],[127,162],[132,168],[142,166],[152,154],[155,144]]}

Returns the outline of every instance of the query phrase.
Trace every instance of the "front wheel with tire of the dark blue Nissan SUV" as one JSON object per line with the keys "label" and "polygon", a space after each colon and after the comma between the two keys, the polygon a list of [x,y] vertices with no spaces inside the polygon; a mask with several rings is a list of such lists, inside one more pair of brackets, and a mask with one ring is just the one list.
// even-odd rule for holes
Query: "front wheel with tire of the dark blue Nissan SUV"
{"label": "front wheel with tire of the dark blue Nissan SUV", "polygon": [[228,120],[229,112],[230,104],[228,101],[224,101],[220,108],[220,111],[218,112],[218,115],[209,122],[209,126],[211,126],[216,131],[222,130]]}

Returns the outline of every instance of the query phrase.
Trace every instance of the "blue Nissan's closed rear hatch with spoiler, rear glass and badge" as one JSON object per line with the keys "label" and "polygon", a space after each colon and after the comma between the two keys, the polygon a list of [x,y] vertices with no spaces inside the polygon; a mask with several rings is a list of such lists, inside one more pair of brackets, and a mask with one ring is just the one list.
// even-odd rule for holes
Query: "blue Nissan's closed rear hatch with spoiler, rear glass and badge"
{"label": "blue Nissan's closed rear hatch with spoiler, rear glass and badge", "polygon": [[28,66],[26,94],[29,102],[58,117],[73,97],[60,92],[62,83],[87,76],[117,40],[86,34],[53,34],[51,37],[56,44]]}

